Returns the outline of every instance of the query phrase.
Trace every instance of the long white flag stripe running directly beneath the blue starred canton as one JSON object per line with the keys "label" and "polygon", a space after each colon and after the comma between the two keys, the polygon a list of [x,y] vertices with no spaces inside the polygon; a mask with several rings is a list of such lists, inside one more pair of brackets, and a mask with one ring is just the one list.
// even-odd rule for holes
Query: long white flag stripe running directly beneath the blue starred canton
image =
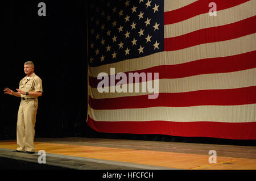
{"label": "long white flag stripe running directly beneath the blue starred canton", "polygon": [[[154,53],[150,56],[134,58],[113,64],[89,67],[90,77],[97,77],[105,72],[110,75],[110,68],[115,73],[147,69],[158,65],[175,65],[204,58],[226,57],[256,50],[256,33],[237,39],[196,45],[181,50]],[[145,63],[146,62],[146,63]]]}

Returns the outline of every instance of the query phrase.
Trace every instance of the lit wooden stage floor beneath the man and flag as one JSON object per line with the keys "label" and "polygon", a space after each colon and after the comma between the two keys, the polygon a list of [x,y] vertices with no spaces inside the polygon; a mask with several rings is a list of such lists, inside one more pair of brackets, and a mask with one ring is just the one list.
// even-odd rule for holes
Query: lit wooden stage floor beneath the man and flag
{"label": "lit wooden stage floor beneath the man and flag", "polygon": [[[15,153],[16,147],[15,140],[0,140],[0,157],[38,162],[38,153]],[[35,149],[46,151],[47,164],[67,169],[256,170],[254,146],[69,137],[36,138]],[[217,163],[209,163],[209,150]]]}

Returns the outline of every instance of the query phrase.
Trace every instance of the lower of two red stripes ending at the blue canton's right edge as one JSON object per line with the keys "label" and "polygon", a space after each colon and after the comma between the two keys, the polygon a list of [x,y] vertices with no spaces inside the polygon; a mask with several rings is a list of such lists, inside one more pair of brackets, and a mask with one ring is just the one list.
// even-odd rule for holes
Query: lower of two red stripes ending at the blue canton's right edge
{"label": "lower of two red stripes ending at the blue canton's right edge", "polygon": [[164,39],[164,50],[174,51],[199,44],[236,39],[256,32],[256,16],[223,26],[205,28]]}

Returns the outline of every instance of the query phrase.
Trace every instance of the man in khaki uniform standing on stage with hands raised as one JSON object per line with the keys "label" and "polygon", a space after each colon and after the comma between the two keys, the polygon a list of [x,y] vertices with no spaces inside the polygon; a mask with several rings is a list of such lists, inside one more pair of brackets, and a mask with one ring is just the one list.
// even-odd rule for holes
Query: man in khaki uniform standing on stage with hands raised
{"label": "man in khaki uniform standing on stage with hands raised", "polygon": [[21,97],[17,119],[17,152],[35,153],[35,120],[38,110],[38,96],[42,96],[42,80],[34,73],[34,64],[25,62],[24,72],[27,74],[19,82],[17,92],[6,88],[5,94]]}

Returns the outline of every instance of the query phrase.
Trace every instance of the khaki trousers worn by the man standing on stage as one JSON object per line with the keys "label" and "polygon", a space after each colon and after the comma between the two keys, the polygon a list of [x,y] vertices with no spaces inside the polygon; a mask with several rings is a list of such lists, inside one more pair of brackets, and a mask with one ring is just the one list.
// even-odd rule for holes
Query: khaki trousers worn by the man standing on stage
{"label": "khaki trousers worn by the man standing on stage", "polygon": [[17,119],[17,145],[19,151],[35,151],[35,121],[38,99],[21,100]]}

